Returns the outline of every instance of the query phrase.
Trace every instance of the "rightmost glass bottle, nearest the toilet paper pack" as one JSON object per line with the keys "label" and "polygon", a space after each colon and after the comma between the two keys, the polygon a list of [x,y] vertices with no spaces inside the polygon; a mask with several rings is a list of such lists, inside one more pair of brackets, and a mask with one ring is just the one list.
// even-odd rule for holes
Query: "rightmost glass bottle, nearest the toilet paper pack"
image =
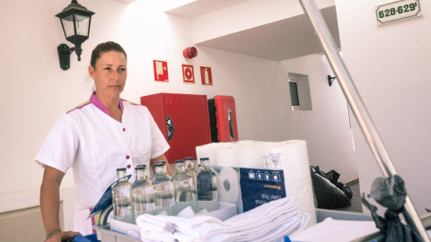
{"label": "rightmost glass bottle, nearest the toilet paper pack", "polygon": [[213,211],[218,208],[216,175],[209,169],[208,158],[201,158],[200,165],[197,177],[198,208]]}

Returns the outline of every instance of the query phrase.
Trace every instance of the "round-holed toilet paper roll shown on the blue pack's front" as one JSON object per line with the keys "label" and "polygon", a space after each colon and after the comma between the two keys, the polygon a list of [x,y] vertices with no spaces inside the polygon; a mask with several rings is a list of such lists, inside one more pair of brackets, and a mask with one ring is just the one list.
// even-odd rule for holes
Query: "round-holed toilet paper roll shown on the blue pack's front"
{"label": "round-holed toilet paper roll shown on the blue pack's front", "polygon": [[217,190],[220,201],[236,203],[240,197],[240,174],[233,168],[222,168],[217,177]]}

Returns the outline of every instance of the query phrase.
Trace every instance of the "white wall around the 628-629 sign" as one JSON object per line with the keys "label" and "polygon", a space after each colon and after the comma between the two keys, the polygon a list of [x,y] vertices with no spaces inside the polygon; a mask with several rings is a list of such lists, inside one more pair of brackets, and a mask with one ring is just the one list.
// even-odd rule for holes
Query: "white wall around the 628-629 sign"
{"label": "white wall around the 628-629 sign", "polygon": [[[337,0],[339,34],[356,87],[419,214],[429,208],[431,169],[431,4],[422,17],[376,25],[374,6],[385,1]],[[354,125],[361,191],[381,177],[363,135]]]}

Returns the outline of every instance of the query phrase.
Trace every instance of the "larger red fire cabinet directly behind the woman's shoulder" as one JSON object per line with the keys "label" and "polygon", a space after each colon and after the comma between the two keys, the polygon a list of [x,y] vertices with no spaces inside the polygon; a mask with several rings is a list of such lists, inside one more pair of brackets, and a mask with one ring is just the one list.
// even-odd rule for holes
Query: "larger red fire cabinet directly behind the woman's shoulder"
{"label": "larger red fire cabinet directly behind the woman's shoulder", "polygon": [[170,163],[196,156],[196,146],[211,143],[206,95],[158,93],[141,97],[171,149]]}

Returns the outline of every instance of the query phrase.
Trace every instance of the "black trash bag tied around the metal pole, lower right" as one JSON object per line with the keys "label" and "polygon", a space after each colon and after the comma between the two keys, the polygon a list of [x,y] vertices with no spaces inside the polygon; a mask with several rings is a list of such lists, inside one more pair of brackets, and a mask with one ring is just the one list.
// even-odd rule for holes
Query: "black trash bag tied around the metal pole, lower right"
{"label": "black trash bag tied around the metal pole, lower right", "polygon": [[383,238],[379,242],[422,242],[422,238],[409,225],[404,225],[400,221],[399,214],[404,211],[406,203],[406,189],[404,181],[398,175],[383,178],[377,177],[372,185],[371,194],[375,202],[387,208],[384,218],[377,214],[377,207],[369,203],[365,194],[362,194],[362,203],[367,207],[373,216],[375,227],[383,233]]}

